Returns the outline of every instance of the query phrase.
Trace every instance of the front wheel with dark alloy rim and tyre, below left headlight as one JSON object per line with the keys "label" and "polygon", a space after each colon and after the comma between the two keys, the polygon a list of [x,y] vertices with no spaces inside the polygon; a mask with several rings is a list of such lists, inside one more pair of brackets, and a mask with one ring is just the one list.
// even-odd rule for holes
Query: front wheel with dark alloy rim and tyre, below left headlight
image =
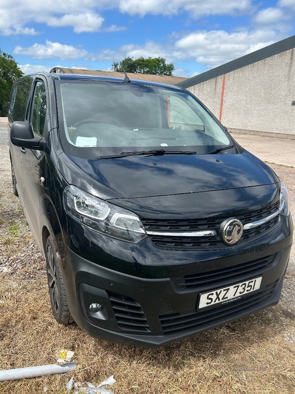
{"label": "front wheel with dark alloy rim and tyre, below left headlight", "polygon": [[58,323],[72,323],[74,320],[64,290],[57,249],[51,236],[46,242],[46,268],[52,313]]}

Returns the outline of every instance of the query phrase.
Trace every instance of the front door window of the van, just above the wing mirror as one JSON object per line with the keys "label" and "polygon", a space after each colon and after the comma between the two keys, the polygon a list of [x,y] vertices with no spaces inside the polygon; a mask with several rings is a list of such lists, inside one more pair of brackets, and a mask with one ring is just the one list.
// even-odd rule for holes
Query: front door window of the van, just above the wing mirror
{"label": "front door window of the van, just above the wing mirror", "polygon": [[43,82],[35,85],[34,99],[31,114],[31,125],[33,132],[43,135],[45,118],[47,111],[46,89]]}

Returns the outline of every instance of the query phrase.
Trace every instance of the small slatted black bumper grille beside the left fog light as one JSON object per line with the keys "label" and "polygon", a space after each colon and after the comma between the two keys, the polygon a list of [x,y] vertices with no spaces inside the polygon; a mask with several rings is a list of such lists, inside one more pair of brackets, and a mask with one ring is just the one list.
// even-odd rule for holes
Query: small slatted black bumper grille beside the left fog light
{"label": "small slatted black bumper grille beside the left fog light", "polygon": [[116,316],[118,327],[124,330],[149,332],[145,314],[133,298],[109,292],[109,299]]}

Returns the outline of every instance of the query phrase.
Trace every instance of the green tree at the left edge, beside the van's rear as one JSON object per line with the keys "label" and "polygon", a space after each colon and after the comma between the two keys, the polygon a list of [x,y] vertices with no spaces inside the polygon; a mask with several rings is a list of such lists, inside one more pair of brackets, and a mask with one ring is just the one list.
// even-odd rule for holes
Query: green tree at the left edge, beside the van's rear
{"label": "green tree at the left edge, beside the van's rear", "polygon": [[23,71],[13,56],[2,52],[0,49],[0,116],[7,116],[10,91],[13,81],[20,78]]}

